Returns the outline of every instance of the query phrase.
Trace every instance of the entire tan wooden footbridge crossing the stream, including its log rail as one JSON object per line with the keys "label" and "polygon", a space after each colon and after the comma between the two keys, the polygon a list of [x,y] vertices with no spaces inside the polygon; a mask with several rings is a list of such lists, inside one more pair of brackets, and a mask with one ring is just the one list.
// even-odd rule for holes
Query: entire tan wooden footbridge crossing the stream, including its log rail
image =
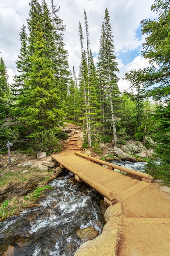
{"label": "entire tan wooden footbridge crossing the stream, including its log rail", "polygon": [[[52,155],[52,158],[60,163],[62,168],[65,167],[74,173],[75,180],[85,182],[103,195],[107,205],[121,202],[153,182],[153,177],[149,174],[111,164],[79,152],[66,156]],[[118,173],[114,171],[115,169],[139,176],[142,180]]]}

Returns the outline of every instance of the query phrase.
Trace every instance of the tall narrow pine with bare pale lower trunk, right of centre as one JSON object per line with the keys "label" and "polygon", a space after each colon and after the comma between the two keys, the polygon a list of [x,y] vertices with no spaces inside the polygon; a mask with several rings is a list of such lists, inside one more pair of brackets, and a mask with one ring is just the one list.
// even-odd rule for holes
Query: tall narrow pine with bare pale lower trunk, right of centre
{"label": "tall narrow pine with bare pale lower trunk, right of centre", "polygon": [[[119,72],[114,52],[113,34],[110,26],[110,17],[108,9],[106,8],[104,22],[102,24],[102,35],[100,38],[100,49],[98,54],[98,77],[101,97],[101,110],[103,121],[111,121],[113,126],[113,136],[115,146],[117,146],[117,132],[116,132],[116,108],[119,102],[119,88],[117,81],[119,80],[116,72]],[[107,106],[107,111],[106,111]],[[109,106],[109,107],[108,107]],[[108,111],[109,110],[109,111]],[[106,112],[108,115],[106,115]],[[111,120],[109,116],[111,115]]]}

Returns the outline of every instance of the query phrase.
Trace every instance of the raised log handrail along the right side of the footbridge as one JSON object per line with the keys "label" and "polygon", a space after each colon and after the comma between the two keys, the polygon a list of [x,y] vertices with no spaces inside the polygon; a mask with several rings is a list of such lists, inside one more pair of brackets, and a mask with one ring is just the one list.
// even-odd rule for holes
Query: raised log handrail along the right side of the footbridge
{"label": "raised log handrail along the right side of the footbridge", "polygon": [[136,176],[142,177],[142,178],[147,179],[147,180],[151,180],[151,181],[153,180],[153,177],[150,174],[147,174],[147,173],[143,173],[143,172],[140,172],[140,171],[135,171],[135,170],[123,167],[123,166],[119,166],[117,164],[108,163],[106,161],[97,159],[95,157],[90,157],[88,155],[84,155],[84,154],[82,154],[80,152],[77,152],[77,151],[75,151],[75,155],[79,155],[81,157],[84,157],[86,159],[89,159],[90,161],[93,161],[93,162],[96,162],[96,163],[99,163],[99,164],[104,164],[106,166],[109,166],[109,167],[113,168],[113,170],[117,169],[119,171],[124,171],[126,173],[130,173],[132,175],[136,175]]}

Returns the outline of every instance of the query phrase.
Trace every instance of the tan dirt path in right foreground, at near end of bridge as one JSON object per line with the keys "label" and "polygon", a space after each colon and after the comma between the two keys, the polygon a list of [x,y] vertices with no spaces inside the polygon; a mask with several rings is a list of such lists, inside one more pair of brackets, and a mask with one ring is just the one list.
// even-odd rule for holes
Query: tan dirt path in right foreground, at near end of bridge
{"label": "tan dirt path in right foreground, at near end of bridge", "polygon": [[158,184],[121,202],[120,256],[170,256],[170,194]]}

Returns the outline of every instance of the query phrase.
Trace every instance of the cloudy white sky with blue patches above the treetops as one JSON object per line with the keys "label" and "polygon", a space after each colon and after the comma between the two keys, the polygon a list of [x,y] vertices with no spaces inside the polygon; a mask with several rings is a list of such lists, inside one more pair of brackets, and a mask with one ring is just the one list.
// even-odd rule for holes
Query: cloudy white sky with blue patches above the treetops
{"label": "cloudy white sky with blue patches above the treetops", "polygon": [[[20,54],[20,32],[22,24],[27,26],[30,1],[0,1],[0,56],[7,67],[9,83],[17,74],[15,61]],[[51,0],[46,0],[46,3],[50,9]],[[71,71],[74,66],[77,75],[81,58],[78,25],[80,21],[85,35],[84,10],[88,20],[90,48],[94,62],[97,63],[102,22],[105,10],[108,9],[115,56],[120,70],[118,86],[121,91],[127,90],[130,85],[128,81],[123,80],[126,72],[149,65],[141,56],[141,44],[144,43],[145,36],[141,35],[140,22],[146,18],[154,18],[155,14],[150,11],[154,0],[53,0],[53,3],[60,7],[58,16],[66,25],[64,43],[68,51],[68,63]]]}

